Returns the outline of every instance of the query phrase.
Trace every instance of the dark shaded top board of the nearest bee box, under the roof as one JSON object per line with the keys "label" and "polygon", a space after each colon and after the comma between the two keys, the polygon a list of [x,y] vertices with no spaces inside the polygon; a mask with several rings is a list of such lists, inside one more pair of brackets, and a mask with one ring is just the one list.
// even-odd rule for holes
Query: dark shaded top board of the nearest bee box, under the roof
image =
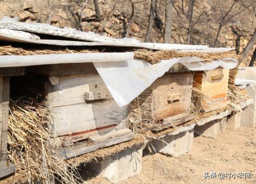
{"label": "dark shaded top board of the nearest bee box, under the roof", "polygon": [[27,67],[27,71],[49,76],[98,74],[93,63],[46,64]]}

